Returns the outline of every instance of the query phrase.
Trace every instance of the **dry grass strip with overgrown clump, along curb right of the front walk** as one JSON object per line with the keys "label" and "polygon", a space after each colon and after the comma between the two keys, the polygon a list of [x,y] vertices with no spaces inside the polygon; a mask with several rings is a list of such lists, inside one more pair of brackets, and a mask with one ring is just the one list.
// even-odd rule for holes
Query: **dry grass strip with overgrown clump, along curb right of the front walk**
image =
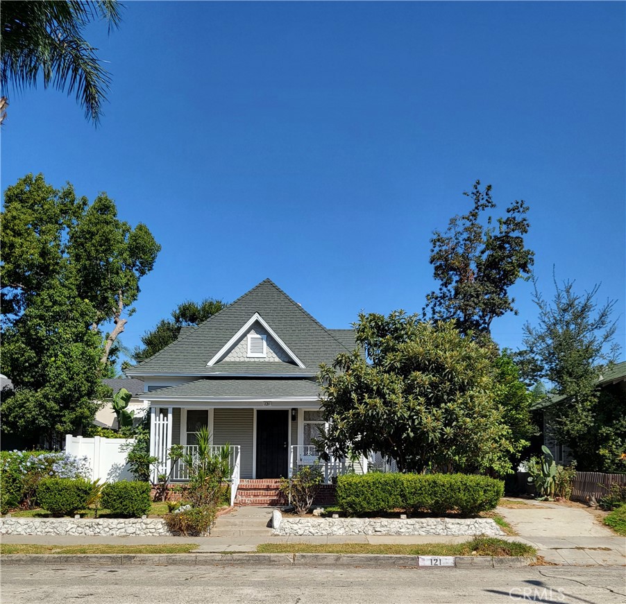
{"label": "dry grass strip with overgrown clump, along curb right of the front walk", "polygon": [[369,544],[369,543],[263,543],[257,553],[374,553],[402,555],[536,555],[534,547],[496,537],[476,537],[464,543]]}

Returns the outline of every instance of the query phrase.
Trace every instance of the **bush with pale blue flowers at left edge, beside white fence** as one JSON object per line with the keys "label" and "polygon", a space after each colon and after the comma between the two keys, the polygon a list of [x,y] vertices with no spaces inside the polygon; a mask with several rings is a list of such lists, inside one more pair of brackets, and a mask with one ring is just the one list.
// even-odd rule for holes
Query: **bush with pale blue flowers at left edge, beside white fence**
{"label": "bush with pale blue flowers at left edge, beside white fence", "polygon": [[2,451],[0,513],[22,506],[33,508],[42,478],[90,478],[89,458],[65,451]]}

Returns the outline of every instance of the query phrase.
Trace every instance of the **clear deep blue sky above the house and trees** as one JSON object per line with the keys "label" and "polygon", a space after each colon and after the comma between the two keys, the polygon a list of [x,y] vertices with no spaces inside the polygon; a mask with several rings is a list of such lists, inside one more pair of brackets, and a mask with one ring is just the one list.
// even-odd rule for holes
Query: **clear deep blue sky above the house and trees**
{"label": "clear deep blue sky above the house and trees", "polygon": [[[128,2],[92,27],[108,63],[101,126],[73,98],[10,94],[1,186],[42,172],[162,245],[122,336],[185,299],[273,279],[327,327],[420,311],[430,234],[493,184],[530,205],[539,286],[552,267],[617,299],[625,343],[624,3]],[[502,346],[534,322],[493,323]],[[620,359],[624,359],[621,352]]]}

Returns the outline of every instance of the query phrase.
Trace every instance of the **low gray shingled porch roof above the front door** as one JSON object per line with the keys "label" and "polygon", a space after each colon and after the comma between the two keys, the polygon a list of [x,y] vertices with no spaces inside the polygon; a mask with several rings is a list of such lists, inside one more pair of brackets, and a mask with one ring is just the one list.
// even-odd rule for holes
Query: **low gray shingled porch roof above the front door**
{"label": "low gray shingled porch roof above the front door", "polygon": [[310,379],[196,379],[180,386],[159,388],[146,392],[145,399],[171,399],[202,397],[253,398],[253,399],[290,399],[292,397],[319,396],[319,384]]}

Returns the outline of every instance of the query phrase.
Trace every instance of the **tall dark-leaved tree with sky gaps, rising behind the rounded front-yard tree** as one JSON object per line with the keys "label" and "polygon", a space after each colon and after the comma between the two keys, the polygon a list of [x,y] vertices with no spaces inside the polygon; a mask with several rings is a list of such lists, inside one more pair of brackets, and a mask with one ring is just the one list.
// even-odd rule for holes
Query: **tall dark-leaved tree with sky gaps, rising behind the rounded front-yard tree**
{"label": "tall dark-leaved tree with sky gaps, rising behind the rounded front-yard tree", "polygon": [[439,289],[426,296],[423,314],[455,319],[464,334],[489,336],[493,319],[517,314],[509,288],[531,272],[534,252],[524,243],[528,207],[516,200],[494,223],[489,214],[496,207],[491,184],[481,189],[477,180],[464,195],[473,201],[472,209],[451,218],[446,232],[434,231],[430,240],[430,264]]}

